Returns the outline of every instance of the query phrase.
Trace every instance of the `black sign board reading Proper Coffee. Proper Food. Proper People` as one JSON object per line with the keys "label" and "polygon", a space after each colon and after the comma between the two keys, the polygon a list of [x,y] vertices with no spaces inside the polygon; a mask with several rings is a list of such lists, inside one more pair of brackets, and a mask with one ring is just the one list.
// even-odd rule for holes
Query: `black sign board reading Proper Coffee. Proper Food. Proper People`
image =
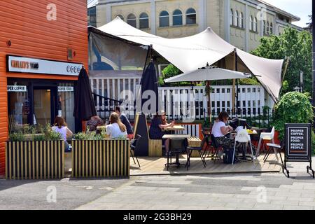
{"label": "black sign board reading Proper Coffee. Proper Food. Proper People", "polygon": [[286,124],[286,161],[311,160],[311,124]]}

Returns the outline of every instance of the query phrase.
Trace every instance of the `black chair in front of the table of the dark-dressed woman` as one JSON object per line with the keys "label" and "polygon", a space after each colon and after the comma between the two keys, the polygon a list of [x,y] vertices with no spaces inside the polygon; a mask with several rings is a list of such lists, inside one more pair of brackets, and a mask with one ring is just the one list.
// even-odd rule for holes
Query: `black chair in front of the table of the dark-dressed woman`
{"label": "black chair in front of the table of the dark-dressed woman", "polygon": [[[187,139],[169,139],[169,152],[167,153],[167,163],[165,164],[167,170],[169,170],[169,167],[171,165],[176,165],[176,167],[179,168],[179,166],[181,165],[181,163],[179,162],[179,154],[181,153],[187,153],[186,165],[188,165],[189,153],[187,147]],[[173,155],[176,156],[176,162],[172,162]]]}

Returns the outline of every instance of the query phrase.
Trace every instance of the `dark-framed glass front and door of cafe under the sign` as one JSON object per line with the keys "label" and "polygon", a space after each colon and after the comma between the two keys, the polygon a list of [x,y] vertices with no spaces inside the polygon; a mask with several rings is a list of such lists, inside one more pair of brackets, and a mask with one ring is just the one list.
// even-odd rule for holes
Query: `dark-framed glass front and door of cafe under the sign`
{"label": "dark-framed glass front and door of cafe under the sign", "polygon": [[[14,125],[52,124],[62,116],[70,130],[76,130],[73,117],[75,82],[8,78],[8,116]],[[12,124],[11,124],[12,125]]]}

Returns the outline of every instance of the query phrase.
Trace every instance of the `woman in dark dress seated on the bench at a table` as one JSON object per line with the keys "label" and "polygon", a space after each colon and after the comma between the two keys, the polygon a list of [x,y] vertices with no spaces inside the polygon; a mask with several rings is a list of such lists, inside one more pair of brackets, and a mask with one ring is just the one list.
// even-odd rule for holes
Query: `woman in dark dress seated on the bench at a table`
{"label": "woman in dark dress seated on the bench at a table", "polygon": [[[163,132],[165,127],[173,127],[174,121],[172,123],[167,123],[165,111],[160,111],[156,113],[154,118],[151,120],[151,126],[149,130],[150,139],[162,139],[163,135],[166,134]],[[162,143],[165,145],[165,153],[169,152],[169,139],[162,139]]]}

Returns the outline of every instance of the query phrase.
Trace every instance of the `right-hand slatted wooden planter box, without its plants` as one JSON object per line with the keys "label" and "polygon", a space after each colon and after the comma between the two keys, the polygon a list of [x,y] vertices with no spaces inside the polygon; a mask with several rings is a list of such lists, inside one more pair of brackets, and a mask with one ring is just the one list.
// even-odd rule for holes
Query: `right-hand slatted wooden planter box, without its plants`
{"label": "right-hand slatted wooden planter box, without its plants", "polygon": [[73,140],[72,177],[130,176],[130,140]]}

